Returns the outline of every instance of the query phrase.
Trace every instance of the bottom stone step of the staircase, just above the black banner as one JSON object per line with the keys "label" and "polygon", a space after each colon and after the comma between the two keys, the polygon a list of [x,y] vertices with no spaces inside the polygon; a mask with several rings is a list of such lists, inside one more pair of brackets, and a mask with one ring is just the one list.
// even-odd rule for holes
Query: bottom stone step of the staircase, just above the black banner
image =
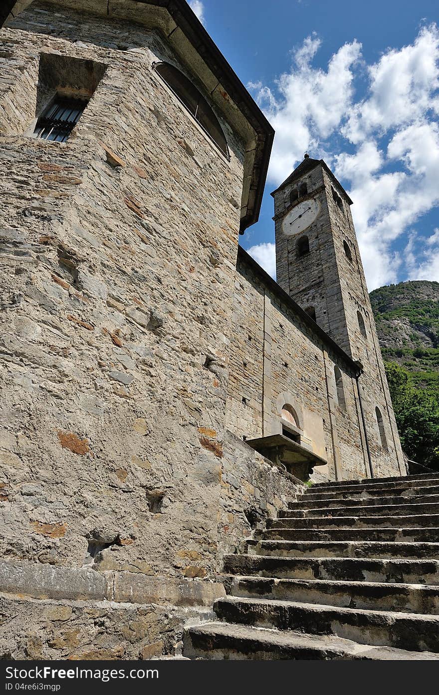
{"label": "bottom stone step of the staircase, just above the black banner", "polygon": [[186,628],[183,653],[190,659],[210,660],[439,660],[432,652],[370,646],[333,635],[320,637],[229,623]]}

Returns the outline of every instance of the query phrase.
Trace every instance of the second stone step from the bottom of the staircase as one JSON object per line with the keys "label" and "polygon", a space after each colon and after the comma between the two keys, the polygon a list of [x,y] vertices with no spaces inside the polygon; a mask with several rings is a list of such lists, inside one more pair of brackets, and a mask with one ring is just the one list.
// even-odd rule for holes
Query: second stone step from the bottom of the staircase
{"label": "second stone step from the bottom of the staircase", "polygon": [[214,610],[227,623],[336,635],[408,651],[439,650],[439,616],[236,596],[218,598]]}

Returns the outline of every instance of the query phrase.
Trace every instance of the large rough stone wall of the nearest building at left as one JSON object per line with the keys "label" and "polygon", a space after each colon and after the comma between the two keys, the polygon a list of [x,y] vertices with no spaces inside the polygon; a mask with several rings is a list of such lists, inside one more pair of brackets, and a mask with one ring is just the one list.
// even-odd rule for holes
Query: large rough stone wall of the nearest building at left
{"label": "large rough stone wall of the nearest building at left", "polygon": [[[296,489],[224,440],[244,147],[222,122],[219,154],[140,26],[37,3],[0,40],[3,653],[169,651],[247,509]],[[25,135],[41,52],[107,66],[65,143]]]}

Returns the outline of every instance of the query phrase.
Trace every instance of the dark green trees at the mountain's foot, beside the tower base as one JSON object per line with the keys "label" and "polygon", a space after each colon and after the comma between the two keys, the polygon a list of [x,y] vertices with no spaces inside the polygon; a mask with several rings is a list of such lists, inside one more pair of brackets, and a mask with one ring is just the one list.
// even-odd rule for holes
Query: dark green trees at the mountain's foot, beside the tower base
{"label": "dark green trees at the mountain's foot, beside the tower base", "polygon": [[385,367],[402,448],[409,459],[439,471],[438,394],[416,389],[395,362]]}

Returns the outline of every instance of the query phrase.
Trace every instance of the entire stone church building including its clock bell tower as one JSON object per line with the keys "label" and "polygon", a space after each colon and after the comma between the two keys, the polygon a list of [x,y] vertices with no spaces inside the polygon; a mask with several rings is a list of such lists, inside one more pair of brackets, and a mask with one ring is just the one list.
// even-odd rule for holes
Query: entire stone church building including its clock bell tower
{"label": "entire stone church building including its clock bell tower", "polygon": [[6,1],[0,591],[13,658],[149,658],[315,482],[406,468],[351,218],[183,0]]}

